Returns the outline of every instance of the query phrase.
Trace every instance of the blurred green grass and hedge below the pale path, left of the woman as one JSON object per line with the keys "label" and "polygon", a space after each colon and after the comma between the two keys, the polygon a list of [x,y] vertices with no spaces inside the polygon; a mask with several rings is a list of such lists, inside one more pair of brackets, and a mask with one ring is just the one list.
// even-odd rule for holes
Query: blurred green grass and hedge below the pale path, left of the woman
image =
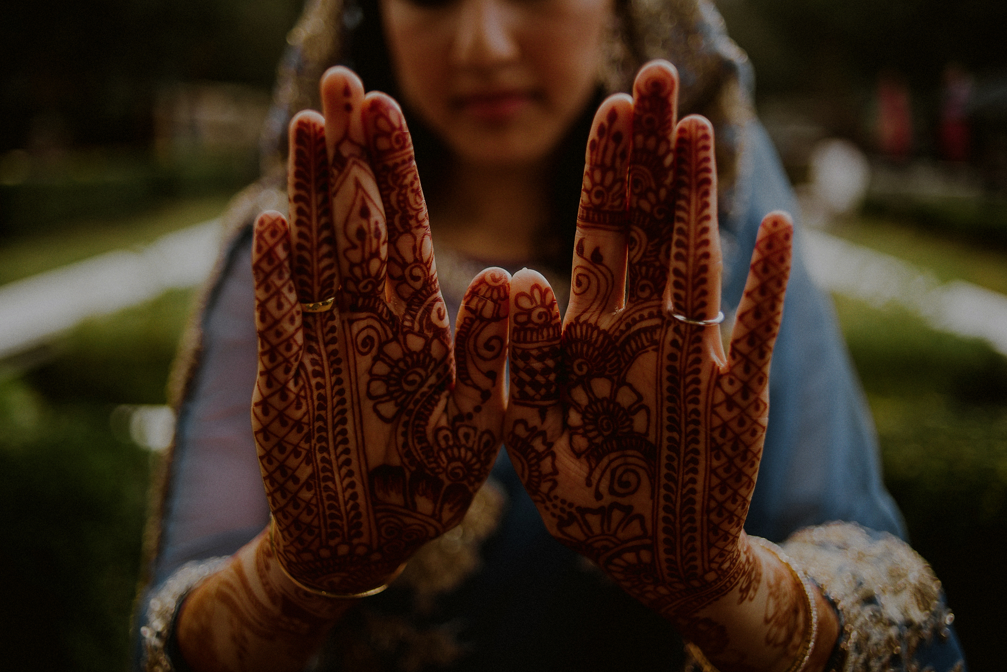
{"label": "blurred green grass and hedge below the pale path, left of the woman", "polygon": [[165,403],[191,293],[89,320],[43,365],[0,378],[5,670],[126,668],[157,456],[117,437],[110,414]]}

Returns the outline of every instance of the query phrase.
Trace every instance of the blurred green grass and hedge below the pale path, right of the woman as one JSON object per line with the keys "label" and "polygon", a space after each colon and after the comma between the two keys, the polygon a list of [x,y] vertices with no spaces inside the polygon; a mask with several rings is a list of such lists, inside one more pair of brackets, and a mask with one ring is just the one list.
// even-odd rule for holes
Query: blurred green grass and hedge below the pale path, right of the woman
{"label": "blurred green grass and hedge below the pale path, right of the woman", "polygon": [[945,584],[972,669],[999,669],[1007,358],[902,310],[842,298],[837,308],[913,548]]}

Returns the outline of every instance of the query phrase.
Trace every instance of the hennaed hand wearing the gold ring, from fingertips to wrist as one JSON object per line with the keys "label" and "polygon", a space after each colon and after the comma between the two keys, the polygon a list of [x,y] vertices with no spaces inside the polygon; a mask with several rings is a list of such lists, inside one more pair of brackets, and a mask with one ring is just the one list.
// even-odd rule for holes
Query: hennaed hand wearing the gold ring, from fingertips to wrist
{"label": "hennaed hand wearing the gold ring, from fingertips to wrist", "polygon": [[355,592],[456,525],[489,473],[510,277],[473,280],[452,352],[398,105],[341,68],[322,100],[324,117],[291,122],[289,231],[277,213],[256,223],[252,421],[283,565]]}

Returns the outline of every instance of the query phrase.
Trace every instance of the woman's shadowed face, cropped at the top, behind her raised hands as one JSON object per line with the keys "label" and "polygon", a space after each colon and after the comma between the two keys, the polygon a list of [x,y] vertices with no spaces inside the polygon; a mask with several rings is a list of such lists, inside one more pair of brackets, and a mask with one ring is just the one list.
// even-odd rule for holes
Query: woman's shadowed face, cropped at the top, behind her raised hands
{"label": "woman's shadowed face, cropped at the top, behind her raised hands", "polygon": [[405,102],[463,161],[539,161],[597,83],[611,0],[381,0]]}

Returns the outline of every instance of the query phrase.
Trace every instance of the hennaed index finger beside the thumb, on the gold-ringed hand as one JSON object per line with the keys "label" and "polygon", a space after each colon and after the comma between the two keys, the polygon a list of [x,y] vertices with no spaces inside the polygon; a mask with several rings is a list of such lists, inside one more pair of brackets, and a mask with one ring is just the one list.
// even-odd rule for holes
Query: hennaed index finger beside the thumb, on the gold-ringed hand
{"label": "hennaed index finger beside the thumb, on the gold-ringed hand", "polygon": [[394,100],[372,92],[364,101],[364,129],[388,228],[389,302],[397,311],[434,311],[442,301],[406,118]]}

